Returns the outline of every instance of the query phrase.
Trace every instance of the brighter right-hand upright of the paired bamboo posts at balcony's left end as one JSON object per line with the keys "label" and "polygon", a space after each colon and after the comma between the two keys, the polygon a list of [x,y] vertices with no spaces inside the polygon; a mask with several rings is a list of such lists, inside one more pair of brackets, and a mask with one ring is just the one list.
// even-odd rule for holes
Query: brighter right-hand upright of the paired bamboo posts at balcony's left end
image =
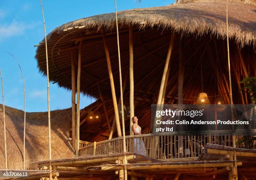
{"label": "brighter right-hand upright of the paired bamboo posts at balcony's left end", "polygon": [[82,41],[79,44],[78,67],[77,67],[77,138],[76,138],[76,156],[79,156],[79,129],[80,129],[80,79],[81,79],[81,59],[82,59]]}

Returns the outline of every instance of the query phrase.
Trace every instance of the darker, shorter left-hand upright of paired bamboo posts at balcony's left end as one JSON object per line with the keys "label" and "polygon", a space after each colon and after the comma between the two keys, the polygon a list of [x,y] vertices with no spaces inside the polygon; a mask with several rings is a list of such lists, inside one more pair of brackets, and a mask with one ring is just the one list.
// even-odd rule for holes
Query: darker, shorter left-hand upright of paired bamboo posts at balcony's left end
{"label": "darker, shorter left-hand upright of paired bamboo posts at balcony's left end", "polygon": [[72,83],[72,147],[76,149],[76,75],[75,51],[71,51],[71,83]]}

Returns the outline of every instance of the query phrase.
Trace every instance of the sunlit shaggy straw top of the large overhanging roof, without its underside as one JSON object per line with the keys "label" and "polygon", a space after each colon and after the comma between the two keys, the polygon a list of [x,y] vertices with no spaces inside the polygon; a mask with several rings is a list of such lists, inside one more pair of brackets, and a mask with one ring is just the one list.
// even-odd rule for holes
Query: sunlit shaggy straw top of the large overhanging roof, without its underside
{"label": "sunlit shaggy straw top of the large overhanging roof, without its underside", "polygon": [[[225,1],[224,0],[184,0],[181,3],[163,7],[125,10],[118,13],[121,26],[134,25],[140,28],[173,28],[177,32],[210,33],[220,38],[226,37]],[[228,0],[228,23],[230,39],[241,45],[256,45],[256,2],[254,0]],[[239,12],[239,13],[238,13]],[[49,35],[49,41],[67,28],[84,26],[85,29],[115,27],[115,13],[95,15],[75,20],[58,28]],[[40,45],[41,46],[41,45]]]}

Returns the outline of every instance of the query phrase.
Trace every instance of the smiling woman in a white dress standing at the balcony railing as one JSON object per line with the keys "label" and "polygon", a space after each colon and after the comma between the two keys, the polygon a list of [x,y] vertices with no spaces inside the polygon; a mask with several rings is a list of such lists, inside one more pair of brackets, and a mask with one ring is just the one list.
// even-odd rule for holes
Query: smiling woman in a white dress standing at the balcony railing
{"label": "smiling woman in a white dress standing at the balcony railing", "polygon": [[[141,127],[138,125],[138,118],[133,117],[133,133],[134,135],[141,134]],[[146,155],[146,149],[142,138],[134,138],[134,153]]]}

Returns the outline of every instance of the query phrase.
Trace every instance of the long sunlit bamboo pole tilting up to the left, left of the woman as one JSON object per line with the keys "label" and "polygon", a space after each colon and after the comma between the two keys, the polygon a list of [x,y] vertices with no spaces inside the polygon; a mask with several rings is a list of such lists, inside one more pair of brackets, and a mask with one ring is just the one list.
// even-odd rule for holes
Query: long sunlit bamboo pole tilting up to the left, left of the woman
{"label": "long sunlit bamboo pole tilting up to the left, left of the woman", "polygon": [[118,131],[118,137],[121,137],[122,133],[121,133],[121,128],[120,128],[118,105],[117,105],[116,96],[115,96],[115,85],[114,85],[113,73],[112,73],[111,62],[110,62],[110,55],[109,55],[108,46],[107,46],[107,42],[106,42],[105,32],[102,33],[102,36],[103,36],[103,43],[104,43],[104,47],[105,47],[105,54],[106,54],[106,59],[107,59],[107,64],[108,64],[108,74],[109,74],[109,79],[110,79],[110,86],[111,86],[113,105],[114,105],[114,111],[115,111],[115,123],[116,123],[116,128]]}

